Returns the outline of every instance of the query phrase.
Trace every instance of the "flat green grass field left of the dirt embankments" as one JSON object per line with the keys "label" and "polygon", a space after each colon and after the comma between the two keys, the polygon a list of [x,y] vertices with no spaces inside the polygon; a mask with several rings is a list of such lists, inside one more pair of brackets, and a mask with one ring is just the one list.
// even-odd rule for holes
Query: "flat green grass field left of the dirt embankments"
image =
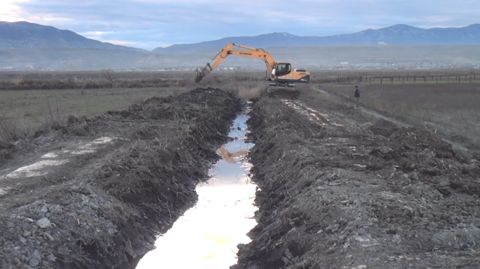
{"label": "flat green grass field left of the dirt embankments", "polygon": [[[0,120],[18,135],[69,115],[94,116],[119,110],[151,97],[180,94],[186,88],[119,88],[88,90],[1,90]],[[5,136],[5,133],[3,133]]]}

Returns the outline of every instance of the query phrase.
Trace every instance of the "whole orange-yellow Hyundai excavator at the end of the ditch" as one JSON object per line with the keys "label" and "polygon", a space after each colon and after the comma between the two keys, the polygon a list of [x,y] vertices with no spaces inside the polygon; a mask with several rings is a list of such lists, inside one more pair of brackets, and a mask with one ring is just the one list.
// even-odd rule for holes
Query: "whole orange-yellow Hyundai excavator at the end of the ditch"
{"label": "whole orange-yellow Hyundai excavator at the end of the ditch", "polygon": [[[234,47],[239,47],[243,50],[234,50]],[[237,55],[243,57],[250,57],[254,59],[263,60],[267,65],[267,81],[270,87],[295,87],[295,83],[310,83],[310,73],[306,69],[293,69],[289,62],[275,62],[270,53],[263,49],[255,49],[246,47],[241,44],[230,43],[227,44],[217,55],[215,55],[204,68],[197,68],[195,70],[195,82],[200,82],[208,73],[211,73],[228,55]]]}

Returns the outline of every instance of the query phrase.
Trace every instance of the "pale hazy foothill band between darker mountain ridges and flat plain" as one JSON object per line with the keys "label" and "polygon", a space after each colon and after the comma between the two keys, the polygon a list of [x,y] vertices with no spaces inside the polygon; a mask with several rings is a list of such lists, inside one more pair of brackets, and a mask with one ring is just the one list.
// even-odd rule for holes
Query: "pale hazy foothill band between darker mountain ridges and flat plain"
{"label": "pale hazy foothill band between darker mountain ridges and flat plain", "polygon": [[[392,46],[321,46],[274,47],[268,51],[275,60],[292,62],[296,67],[318,68],[365,63],[480,63],[477,45],[392,45]],[[202,52],[139,52],[119,49],[31,48],[0,49],[0,69],[101,69],[101,68],[196,68],[205,66],[217,49]],[[261,60],[227,57],[219,68],[242,66],[265,68]]]}

